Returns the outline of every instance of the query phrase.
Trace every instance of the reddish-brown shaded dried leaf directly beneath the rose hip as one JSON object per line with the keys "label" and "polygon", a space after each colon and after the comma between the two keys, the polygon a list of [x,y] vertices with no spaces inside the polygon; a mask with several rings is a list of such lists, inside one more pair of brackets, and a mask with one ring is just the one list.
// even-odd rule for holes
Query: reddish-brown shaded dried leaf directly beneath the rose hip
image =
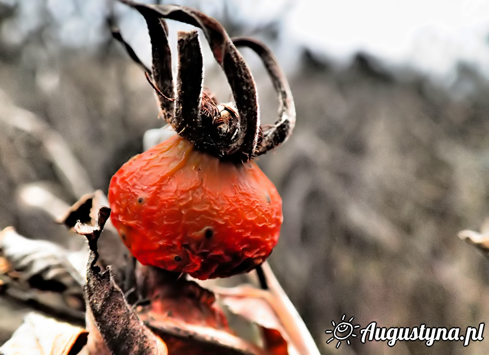
{"label": "reddish-brown shaded dried leaf directly beneath the rose hip", "polygon": [[137,313],[170,354],[266,354],[230,332],[212,291],[178,276],[156,267],[136,268],[138,288],[150,301]]}

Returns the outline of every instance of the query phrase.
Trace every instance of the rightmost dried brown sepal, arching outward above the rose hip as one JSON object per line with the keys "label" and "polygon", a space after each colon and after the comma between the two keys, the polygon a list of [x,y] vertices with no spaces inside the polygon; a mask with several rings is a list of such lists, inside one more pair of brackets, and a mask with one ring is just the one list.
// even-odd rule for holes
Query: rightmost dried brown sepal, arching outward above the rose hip
{"label": "rightmost dried brown sepal, arching outward above the rose hip", "polygon": [[284,143],[292,134],[295,126],[294,100],[286,76],[265,44],[249,37],[234,37],[232,41],[236,46],[251,48],[260,56],[278,94],[278,120],[273,125],[263,125],[261,127],[263,138],[257,148],[257,155],[261,155]]}

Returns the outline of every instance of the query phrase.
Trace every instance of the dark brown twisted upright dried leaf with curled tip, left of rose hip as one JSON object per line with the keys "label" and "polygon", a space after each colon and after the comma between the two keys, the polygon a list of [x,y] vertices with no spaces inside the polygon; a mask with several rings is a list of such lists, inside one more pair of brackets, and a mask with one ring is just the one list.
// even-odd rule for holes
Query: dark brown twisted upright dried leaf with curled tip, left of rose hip
{"label": "dark brown twisted upright dried leaf with curled tip, left of rose hip", "polygon": [[98,258],[97,241],[109,216],[110,208],[101,207],[94,226],[82,223],[75,225],[75,230],[89,241],[85,295],[93,323],[112,354],[166,355],[168,351],[165,344],[139,320],[126,302],[114,281],[111,267],[108,266],[102,273],[95,266]]}

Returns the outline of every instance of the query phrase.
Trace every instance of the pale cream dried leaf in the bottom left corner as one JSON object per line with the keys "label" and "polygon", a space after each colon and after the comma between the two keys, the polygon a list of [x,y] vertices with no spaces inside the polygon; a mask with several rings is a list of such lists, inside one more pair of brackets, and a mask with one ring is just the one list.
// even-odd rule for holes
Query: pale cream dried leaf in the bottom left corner
{"label": "pale cream dried leaf in the bottom left corner", "polygon": [[10,340],[0,347],[0,354],[76,355],[87,343],[87,335],[83,328],[31,312]]}

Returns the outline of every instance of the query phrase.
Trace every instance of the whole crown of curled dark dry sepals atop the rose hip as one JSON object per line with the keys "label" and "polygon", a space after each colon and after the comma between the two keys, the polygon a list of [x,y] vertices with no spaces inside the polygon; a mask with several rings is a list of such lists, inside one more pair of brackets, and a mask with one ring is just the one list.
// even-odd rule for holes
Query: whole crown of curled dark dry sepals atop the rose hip
{"label": "whole crown of curled dark dry sepals atop the rose hip", "polygon": [[[166,121],[182,137],[221,159],[246,161],[282,144],[295,125],[295,107],[285,75],[264,44],[248,38],[232,39],[216,20],[194,9],[178,5],[150,5],[120,0],[138,10],[146,19],[152,44],[152,85]],[[197,31],[178,36],[177,97],[174,94],[168,27],[164,19],[189,23],[202,29],[217,63],[233,92],[236,107],[219,105],[214,96],[202,91],[202,55]],[[144,67],[117,30],[133,60]],[[272,125],[260,125],[256,86],[236,46],[247,46],[262,59],[279,97],[279,118]]]}

